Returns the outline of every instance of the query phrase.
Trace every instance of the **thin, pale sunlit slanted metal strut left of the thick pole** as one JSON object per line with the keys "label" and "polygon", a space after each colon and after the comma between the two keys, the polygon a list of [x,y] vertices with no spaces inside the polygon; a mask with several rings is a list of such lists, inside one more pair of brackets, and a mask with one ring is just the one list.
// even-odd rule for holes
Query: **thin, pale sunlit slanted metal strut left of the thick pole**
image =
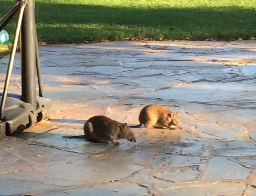
{"label": "thin, pale sunlit slanted metal strut left of the thick pole", "polygon": [[1,101],[1,106],[0,106],[0,119],[4,119],[4,109],[5,109],[5,102],[6,102],[6,97],[7,97],[7,90],[8,90],[8,86],[9,86],[9,82],[10,82],[10,78],[11,78],[14,56],[15,56],[15,52],[17,49],[17,43],[18,43],[18,39],[19,39],[21,20],[22,20],[24,8],[25,8],[25,3],[20,8],[20,12],[19,12],[19,16],[18,16],[18,20],[17,20],[17,24],[16,24],[16,31],[14,34],[12,52],[11,52],[10,59],[9,59],[9,65],[8,65],[8,70],[7,70],[7,74],[6,74],[6,79],[5,79],[4,92],[2,94],[2,101]]}

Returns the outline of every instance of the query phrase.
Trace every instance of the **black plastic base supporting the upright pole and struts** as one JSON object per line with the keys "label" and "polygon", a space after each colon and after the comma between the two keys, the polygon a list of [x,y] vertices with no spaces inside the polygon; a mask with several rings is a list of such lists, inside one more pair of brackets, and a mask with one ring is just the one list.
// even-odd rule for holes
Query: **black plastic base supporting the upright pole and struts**
{"label": "black plastic base supporting the upright pole and struts", "polygon": [[[0,100],[2,93],[0,93]],[[37,109],[29,103],[22,102],[18,94],[8,94],[4,110],[4,119],[0,119],[0,139],[6,135],[20,133],[50,115],[52,102],[50,99],[36,97]]]}

